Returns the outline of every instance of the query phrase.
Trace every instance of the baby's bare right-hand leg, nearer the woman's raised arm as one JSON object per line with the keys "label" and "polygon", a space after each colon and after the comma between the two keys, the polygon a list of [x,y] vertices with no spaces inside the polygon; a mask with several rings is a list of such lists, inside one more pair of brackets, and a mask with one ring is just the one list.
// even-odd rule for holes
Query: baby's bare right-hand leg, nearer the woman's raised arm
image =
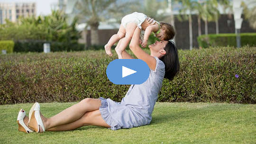
{"label": "baby's bare right-hand leg, nearer the woman's raised arm", "polygon": [[125,48],[128,46],[128,43],[131,41],[131,38],[132,38],[132,35],[135,31],[137,27],[137,24],[136,23],[128,23],[126,25],[126,34],[125,34],[125,37],[122,39],[122,41],[120,42],[120,45],[119,47],[116,47],[115,50],[118,54],[118,58],[119,59],[122,59],[122,51],[125,50]]}

